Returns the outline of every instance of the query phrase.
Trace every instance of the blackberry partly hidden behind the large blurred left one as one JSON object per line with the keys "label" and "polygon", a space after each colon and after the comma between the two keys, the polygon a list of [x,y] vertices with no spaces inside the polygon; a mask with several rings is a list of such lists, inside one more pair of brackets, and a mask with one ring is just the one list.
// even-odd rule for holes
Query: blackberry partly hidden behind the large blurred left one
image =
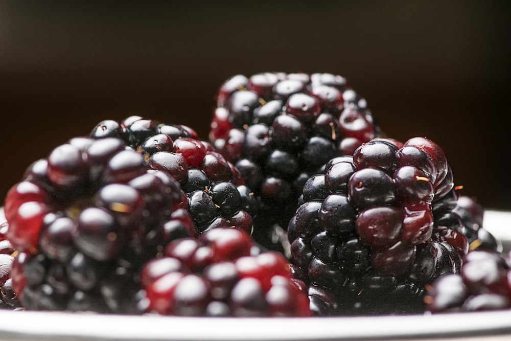
{"label": "blackberry partly hidden behind the large blurred left one", "polygon": [[190,212],[197,233],[231,226],[252,233],[252,217],[258,210],[252,191],[238,169],[193,129],[132,116],[120,123],[100,122],[90,133],[95,139],[112,135],[136,149],[149,168],[179,182],[181,207]]}

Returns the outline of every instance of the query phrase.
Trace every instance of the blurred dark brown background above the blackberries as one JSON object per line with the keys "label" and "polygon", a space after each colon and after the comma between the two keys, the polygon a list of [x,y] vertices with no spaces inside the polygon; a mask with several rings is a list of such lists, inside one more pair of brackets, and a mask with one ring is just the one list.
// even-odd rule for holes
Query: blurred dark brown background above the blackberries
{"label": "blurred dark brown background above the blackberries", "polygon": [[346,77],[383,130],[442,146],[456,185],[511,210],[507,1],[0,1],[0,197],[52,148],[138,114],[207,132],[220,84]]}

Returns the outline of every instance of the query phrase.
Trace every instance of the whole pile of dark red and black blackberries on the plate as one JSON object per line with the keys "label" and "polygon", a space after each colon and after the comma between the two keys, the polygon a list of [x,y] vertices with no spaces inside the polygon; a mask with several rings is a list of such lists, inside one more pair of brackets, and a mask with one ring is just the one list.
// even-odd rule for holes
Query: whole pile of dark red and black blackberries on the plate
{"label": "whole pile of dark red and black blackberries on the plate", "polygon": [[458,196],[442,148],[382,137],[344,78],[237,75],[216,100],[208,141],[130,116],[30,165],[4,201],[0,307],[189,316],[509,308],[511,255],[501,258],[482,207]]}

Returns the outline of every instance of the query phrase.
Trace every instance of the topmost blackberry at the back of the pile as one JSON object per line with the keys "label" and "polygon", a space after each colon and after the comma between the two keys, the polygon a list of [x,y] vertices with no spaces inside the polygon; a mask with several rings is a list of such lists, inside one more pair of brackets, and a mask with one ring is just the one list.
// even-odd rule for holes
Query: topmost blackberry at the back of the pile
{"label": "topmost blackberry at the back of the pile", "polygon": [[[379,135],[365,100],[343,77],[261,73],[221,85],[210,140],[262,198],[258,225],[285,229],[307,178]],[[270,234],[256,231],[255,238],[271,247]]]}

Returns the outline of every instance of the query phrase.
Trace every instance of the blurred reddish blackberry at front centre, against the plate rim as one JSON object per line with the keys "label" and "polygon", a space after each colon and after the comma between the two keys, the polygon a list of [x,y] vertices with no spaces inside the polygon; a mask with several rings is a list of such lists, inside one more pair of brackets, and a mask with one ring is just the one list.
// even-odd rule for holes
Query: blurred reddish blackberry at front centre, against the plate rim
{"label": "blurred reddish blackberry at front centre, against the plate rim", "polygon": [[142,270],[151,311],[188,316],[310,316],[287,259],[243,230],[218,228],[167,245]]}

